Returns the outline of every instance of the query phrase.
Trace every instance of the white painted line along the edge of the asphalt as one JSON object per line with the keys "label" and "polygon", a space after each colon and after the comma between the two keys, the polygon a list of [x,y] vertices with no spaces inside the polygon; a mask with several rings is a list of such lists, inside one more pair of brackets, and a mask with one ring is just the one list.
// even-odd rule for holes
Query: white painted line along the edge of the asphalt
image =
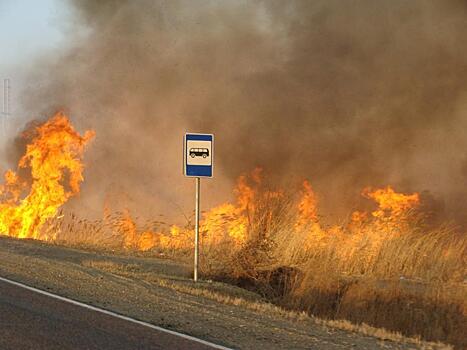
{"label": "white painted line along the edge of the asphalt", "polygon": [[222,346],[222,345],[217,345],[217,344],[214,344],[214,343],[210,343],[210,342],[208,342],[206,340],[203,340],[203,339],[198,339],[198,338],[192,337],[190,335],[186,335],[186,334],[183,334],[183,333],[178,333],[178,332],[175,332],[175,331],[171,331],[170,329],[165,329],[165,328],[162,328],[162,327],[158,327],[158,326],[155,326],[153,324],[143,322],[143,321],[139,321],[139,320],[136,320],[136,319],[131,318],[131,317],[119,315],[119,314],[117,314],[115,312],[112,312],[112,311],[100,309],[98,307],[91,306],[91,305],[88,305],[88,304],[84,304],[84,303],[81,303],[81,302],[73,300],[73,299],[68,299],[68,298],[62,297],[60,295],[49,293],[49,292],[46,292],[45,290],[30,287],[30,286],[28,286],[26,284],[16,282],[16,281],[12,281],[12,280],[9,280],[7,278],[0,277],[0,281],[9,283],[9,284],[15,285],[17,287],[21,287],[21,288],[33,291],[33,292],[36,292],[36,293],[39,293],[39,294],[42,294],[42,295],[46,295],[46,296],[48,296],[50,298],[54,298],[54,299],[61,300],[61,301],[64,301],[64,302],[67,302],[67,303],[70,303],[70,304],[73,304],[73,305],[84,307],[84,308],[89,309],[89,310],[93,310],[93,311],[97,311],[97,312],[100,312],[100,313],[103,313],[103,314],[106,314],[106,315],[109,315],[109,316],[113,316],[113,317],[119,318],[121,320],[125,320],[125,321],[128,321],[128,322],[133,322],[133,323],[139,324],[141,326],[152,328],[152,329],[155,329],[155,330],[157,330],[159,332],[175,335],[175,336],[180,337],[180,338],[184,338],[184,339],[191,340],[191,341],[194,341],[194,342],[206,345],[206,346],[210,346],[213,349],[233,350],[231,348],[227,348],[227,347]]}

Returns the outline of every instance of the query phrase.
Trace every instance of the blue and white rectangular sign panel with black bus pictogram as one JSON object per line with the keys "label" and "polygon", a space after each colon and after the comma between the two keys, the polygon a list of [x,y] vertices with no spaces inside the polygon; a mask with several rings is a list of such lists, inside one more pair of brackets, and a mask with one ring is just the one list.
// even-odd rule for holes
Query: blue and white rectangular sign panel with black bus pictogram
{"label": "blue and white rectangular sign panel with black bus pictogram", "polygon": [[185,134],[183,140],[185,176],[212,177],[214,165],[214,135]]}

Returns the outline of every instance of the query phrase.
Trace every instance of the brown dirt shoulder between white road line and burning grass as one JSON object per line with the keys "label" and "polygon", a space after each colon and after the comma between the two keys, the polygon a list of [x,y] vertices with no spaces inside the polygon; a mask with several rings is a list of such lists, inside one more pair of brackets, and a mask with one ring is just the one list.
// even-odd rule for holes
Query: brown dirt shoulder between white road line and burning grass
{"label": "brown dirt shoulder between white road line and burning grass", "polygon": [[443,348],[330,327],[223,283],[194,284],[187,266],[166,259],[0,237],[0,276],[232,348]]}

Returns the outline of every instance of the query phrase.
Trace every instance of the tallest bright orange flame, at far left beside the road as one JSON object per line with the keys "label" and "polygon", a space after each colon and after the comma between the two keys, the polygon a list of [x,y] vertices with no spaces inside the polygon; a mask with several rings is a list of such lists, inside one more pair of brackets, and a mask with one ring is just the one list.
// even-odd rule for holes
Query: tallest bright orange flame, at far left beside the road
{"label": "tallest bright orange flame, at far left beside the road", "polygon": [[79,193],[83,181],[84,148],[94,136],[80,136],[63,113],[35,129],[35,136],[20,159],[20,168],[30,168],[32,183],[23,199],[25,182],[12,170],[5,173],[0,189],[0,234],[17,238],[41,237],[41,227],[56,216],[70,197]]}

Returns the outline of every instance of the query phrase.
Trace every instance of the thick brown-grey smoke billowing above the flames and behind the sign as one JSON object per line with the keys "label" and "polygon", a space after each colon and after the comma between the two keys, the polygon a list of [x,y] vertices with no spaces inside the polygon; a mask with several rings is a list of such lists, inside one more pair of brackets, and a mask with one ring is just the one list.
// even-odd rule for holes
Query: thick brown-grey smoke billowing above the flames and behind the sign
{"label": "thick brown-grey smoke billowing above the flames and behind the sign", "polygon": [[[465,1],[70,2],[66,45],[25,66],[24,118],[96,130],[75,209],[192,210],[186,131],[214,133],[205,207],[256,166],[308,178],[326,215],[366,186],[429,191],[467,214]],[[109,197],[110,196],[110,197]]]}

